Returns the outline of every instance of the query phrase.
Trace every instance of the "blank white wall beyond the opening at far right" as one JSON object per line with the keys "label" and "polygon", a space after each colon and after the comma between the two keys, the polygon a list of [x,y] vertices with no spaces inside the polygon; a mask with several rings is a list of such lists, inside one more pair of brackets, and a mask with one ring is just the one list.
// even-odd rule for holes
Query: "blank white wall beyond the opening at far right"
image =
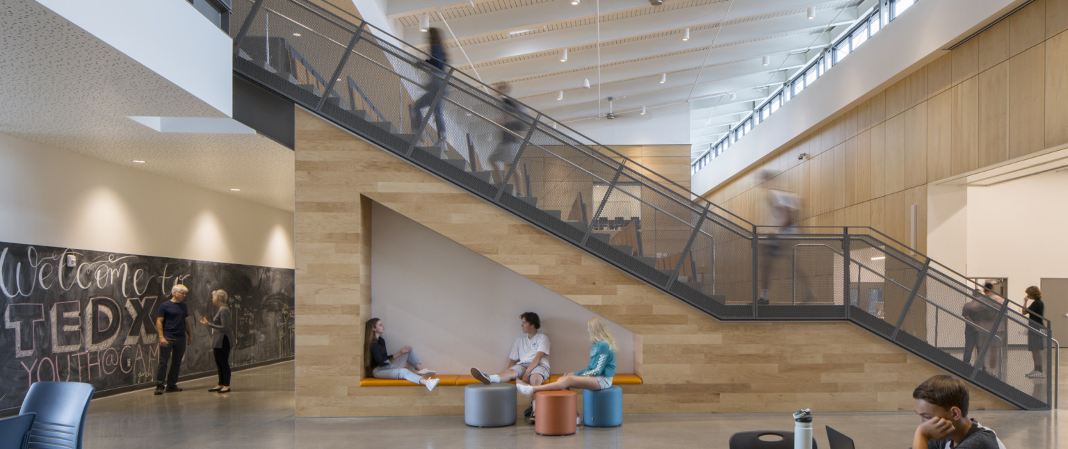
{"label": "blank white wall beyond the opening at far right", "polygon": [[1068,277],[1068,172],[968,189],[968,276],[1007,277],[1009,299]]}

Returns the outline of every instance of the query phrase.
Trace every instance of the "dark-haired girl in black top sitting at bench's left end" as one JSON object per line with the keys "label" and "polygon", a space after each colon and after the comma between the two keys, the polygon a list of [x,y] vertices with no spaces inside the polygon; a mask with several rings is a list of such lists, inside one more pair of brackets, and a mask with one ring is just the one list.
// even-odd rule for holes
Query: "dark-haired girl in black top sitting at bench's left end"
{"label": "dark-haired girl in black top sitting at bench's left end", "polygon": [[426,385],[426,389],[434,391],[440,379],[430,379],[437,372],[423,368],[419,363],[411,347],[400,348],[396,354],[390,354],[386,350],[386,323],[372,318],[366,323],[366,344],[363,347],[364,366],[367,374],[375,379],[404,379],[413,384]]}

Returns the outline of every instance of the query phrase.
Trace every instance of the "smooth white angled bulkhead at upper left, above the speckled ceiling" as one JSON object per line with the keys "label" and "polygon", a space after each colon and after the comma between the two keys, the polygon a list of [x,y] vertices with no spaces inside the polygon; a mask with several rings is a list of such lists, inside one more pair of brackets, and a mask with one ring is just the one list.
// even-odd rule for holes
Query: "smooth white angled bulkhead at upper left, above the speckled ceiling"
{"label": "smooth white angled bulkhead at upper left, above the speckled ceiling", "polygon": [[223,114],[233,115],[233,41],[188,1],[37,2]]}

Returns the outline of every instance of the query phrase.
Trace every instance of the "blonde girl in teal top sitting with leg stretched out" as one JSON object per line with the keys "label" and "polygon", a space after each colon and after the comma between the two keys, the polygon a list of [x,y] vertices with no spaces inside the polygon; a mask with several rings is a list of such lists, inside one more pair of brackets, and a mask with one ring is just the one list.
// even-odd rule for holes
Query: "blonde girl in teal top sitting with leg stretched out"
{"label": "blonde girl in teal top sitting with leg stretched out", "polygon": [[591,318],[586,322],[586,330],[590,331],[590,341],[593,342],[590,349],[590,365],[585,369],[568,372],[559,381],[543,385],[528,385],[516,381],[519,392],[528,398],[536,391],[567,389],[570,387],[585,389],[603,389],[612,386],[612,376],[615,375],[615,340],[608,332],[604,320],[600,317]]}

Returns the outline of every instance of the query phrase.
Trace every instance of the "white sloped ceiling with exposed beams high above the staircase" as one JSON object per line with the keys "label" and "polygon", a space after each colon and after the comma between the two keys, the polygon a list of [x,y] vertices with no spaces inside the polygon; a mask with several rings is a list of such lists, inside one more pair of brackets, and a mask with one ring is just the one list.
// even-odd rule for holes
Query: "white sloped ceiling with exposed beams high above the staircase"
{"label": "white sloped ceiling with exposed beams high above the staircase", "polygon": [[[561,122],[689,102],[695,156],[759,106],[876,0],[384,0],[402,36],[420,19],[450,63]],[[598,4],[599,3],[599,4]],[[806,9],[815,9],[810,20]],[[598,11],[599,10],[599,11]],[[599,17],[599,20],[598,20]],[[598,27],[599,23],[599,27]],[[690,28],[690,39],[682,34]],[[451,30],[451,31],[450,31]],[[530,30],[521,33],[509,34]],[[568,50],[566,62],[560,57]],[[763,57],[770,63],[761,64]],[[661,74],[668,74],[660,83]],[[582,89],[588,78],[592,89]],[[557,100],[559,91],[564,99]],[[729,99],[731,94],[735,99]],[[637,112],[634,112],[637,113]]]}

